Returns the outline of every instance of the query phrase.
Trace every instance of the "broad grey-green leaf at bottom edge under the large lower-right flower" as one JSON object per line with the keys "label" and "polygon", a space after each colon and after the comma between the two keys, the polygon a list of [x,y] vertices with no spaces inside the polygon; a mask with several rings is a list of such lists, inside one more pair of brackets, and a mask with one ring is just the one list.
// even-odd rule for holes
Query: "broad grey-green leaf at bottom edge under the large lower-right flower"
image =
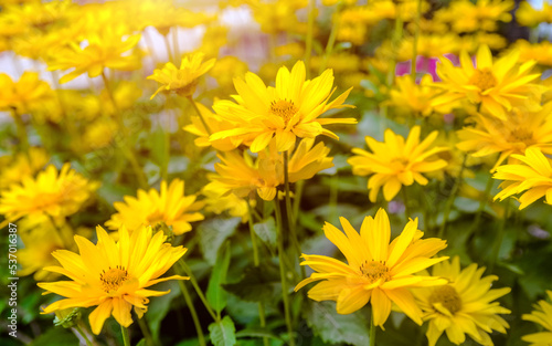
{"label": "broad grey-green leaf at bottom edge under the large lower-right flower", "polygon": [[307,311],[307,324],[326,343],[346,343],[364,346],[369,343],[369,323],[359,313],[340,315],[335,302],[310,304]]}

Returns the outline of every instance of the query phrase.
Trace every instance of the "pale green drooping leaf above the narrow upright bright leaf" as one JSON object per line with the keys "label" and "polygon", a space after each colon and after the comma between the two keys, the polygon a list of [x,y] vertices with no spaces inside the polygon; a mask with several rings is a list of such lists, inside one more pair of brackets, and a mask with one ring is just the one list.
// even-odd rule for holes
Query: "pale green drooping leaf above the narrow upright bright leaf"
{"label": "pale green drooping leaf above the narrow upright bright leaf", "polygon": [[241,218],[212,219],[203,221],[198,227],[201,251],[209,264],[214,265],[219,249],[234,233],[241,221]]}

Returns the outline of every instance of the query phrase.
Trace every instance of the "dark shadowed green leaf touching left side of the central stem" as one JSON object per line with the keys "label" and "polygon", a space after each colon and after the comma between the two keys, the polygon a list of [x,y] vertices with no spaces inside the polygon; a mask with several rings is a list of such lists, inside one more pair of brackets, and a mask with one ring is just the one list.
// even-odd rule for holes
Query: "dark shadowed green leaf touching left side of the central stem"
{"label": "dark shadowed green leaf touching left side of the central stem", "polygon": [[245,302],[272,302],[279,290],[279,272],[274,266],[261,264],[244,270],[244,275],[236,283],[223,285],[224,290]]}

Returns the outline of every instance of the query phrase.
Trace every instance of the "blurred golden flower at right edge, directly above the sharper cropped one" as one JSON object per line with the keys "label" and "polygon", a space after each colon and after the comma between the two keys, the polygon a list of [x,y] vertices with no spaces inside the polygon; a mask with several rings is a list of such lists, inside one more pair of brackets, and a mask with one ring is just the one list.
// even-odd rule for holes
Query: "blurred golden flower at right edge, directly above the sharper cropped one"
{"label": "blurred golden flower at right edge, directly above the sharper cropped one", "polygon": [[[458,149],[475,151],[473,156],[484,157],[500,153],[495,164],[498,167],[512,154],[522,155],[527,148],[540,148],[552,154],[552,103],[537,113],[514,108],[506,120],[477,114],[475,126],[458,130]],[[509,159],[510,164],[513,164]]]}

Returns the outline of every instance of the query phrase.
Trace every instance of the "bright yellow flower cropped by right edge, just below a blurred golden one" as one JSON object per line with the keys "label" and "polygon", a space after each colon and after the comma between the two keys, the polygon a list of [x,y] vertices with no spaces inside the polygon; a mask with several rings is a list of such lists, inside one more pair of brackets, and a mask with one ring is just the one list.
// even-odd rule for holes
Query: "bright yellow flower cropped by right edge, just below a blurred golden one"
{"label": "bright yellow flower cropped by right edge, just below a blurred golden one", "polygon": [[539,198],[545,196],[545,203],[552,205],[552,167],[550,159],[546,158],[539,148],[528,148],[526,155],[512,155],[520,160],[519,165],[503,165],[497,168],[492,176],[495,179],[505,180],[500,184],[500,191],[495,196],[495,200],[503,200],[507,197],[521,193],[517,198],[523,209]]}

